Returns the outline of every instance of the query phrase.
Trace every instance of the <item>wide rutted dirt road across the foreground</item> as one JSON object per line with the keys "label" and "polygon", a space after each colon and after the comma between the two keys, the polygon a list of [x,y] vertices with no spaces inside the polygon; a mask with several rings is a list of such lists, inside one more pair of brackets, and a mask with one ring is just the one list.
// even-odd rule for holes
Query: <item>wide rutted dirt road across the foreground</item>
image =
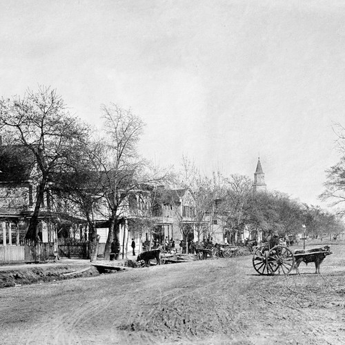
{"label": "wide rutted dirt road across the foreground", "polygon": [[3,288],[0,342],[345,344],[345,263],[330,265],[269,277],[238,257]]}

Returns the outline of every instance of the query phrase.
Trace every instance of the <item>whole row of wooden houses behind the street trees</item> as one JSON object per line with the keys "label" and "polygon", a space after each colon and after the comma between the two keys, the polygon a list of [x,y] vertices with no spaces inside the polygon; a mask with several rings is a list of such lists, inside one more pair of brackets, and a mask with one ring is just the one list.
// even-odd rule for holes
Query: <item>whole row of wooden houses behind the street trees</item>
{"label": "whole row of wooden houses behind the street trees", "polygon": [[[32,161],[30,154],[22,146],[12,147],[11,150],[6,148],[0,152],[0,246],[19,246],[26,236],[30,217],[34,212],[39,178],[39,171]],[[152,193],[159,195],[153,204]],[[39,211],[41,242],[54,243],[58,238],[66,237],[87,240],[86,219],[66,204],[60,205],[59,210],[56,205],[53,208],[51,198],[50,193],[45,193]],[[200,236],[197,233],[195,196],[189,188],[142,186],[129,193],[125,204],[118,211],[121,213],[119,236],[123,243],[128,244],[129,238],[135,238],[138,246],[146,241],[163,244],[165,239],[172,238],[178,244],[183,238],[182,228],[188,229],[188,239],[191,240],[201,240],[208,234],[217,242],[224,241],[224,224],[215,221],[211,210],[202,220],[204,234]],[[144,209],[147,210],[148,207],[151,208],[150,213],[144,213]],[[94,215],[100,243],[105,243],[108,237],[107,212],[104,204],[103,209]],[[138,230],[138,219],[148,217],[148,214],[150,226]]]}

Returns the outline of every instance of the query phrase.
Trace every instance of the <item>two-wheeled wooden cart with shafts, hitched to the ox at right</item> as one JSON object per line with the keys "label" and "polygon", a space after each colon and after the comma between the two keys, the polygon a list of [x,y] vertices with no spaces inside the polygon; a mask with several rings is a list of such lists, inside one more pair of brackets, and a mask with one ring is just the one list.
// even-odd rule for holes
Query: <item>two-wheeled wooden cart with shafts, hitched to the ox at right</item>
{"label": "two-wheeled wooden cart with shafts, hitched to the ox at right", "polygon": [[253,266],[260,275],[288,275],[295,267],[295,261],[299,257],[309,257],[309,255],[315,255],[315,253],[324,253],[328,255],[332,252],[324,250],[324,248],[317,248],[311,250],[296,250],[295,253],[293,253],[286,246],[277,245],[270,248],[268,244],[263,244],[254,252]]}

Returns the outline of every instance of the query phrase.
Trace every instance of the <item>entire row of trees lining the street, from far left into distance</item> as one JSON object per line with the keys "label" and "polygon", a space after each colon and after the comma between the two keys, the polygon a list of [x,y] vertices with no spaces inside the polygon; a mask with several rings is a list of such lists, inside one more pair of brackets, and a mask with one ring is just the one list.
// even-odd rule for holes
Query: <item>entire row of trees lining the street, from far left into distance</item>
{"label": "entire row of trees lining the street, from far left into distance", "polygon": [[[315,236],[342,229],[339,218],[317,206],[300,204],[279,192],[253,193],[249,177],[224,177],[221,172],[204,176],[186,157],[177,171],[157,167],[139,155],[145,127],[140,117],[115,103],[101,106],[100,112],[103,126],[92,128],[70,114],[56,90],[45,86],[28,90],[23,97],[1,99],[1,137],[8,150],[2,159],[10,157],[11,150],[23,147],[28,152],[24,160],[34,166],[30,178],[37,188],[28,239],[38,239],[39,213],[44,198],[49,197],[50,208],[61,212],[63,204],[68,213],[86,219],[91,255],[97,254],[95,215],[109,219],[104,253],[107,259],[112,240],[119,240],[119,224],[128,212],[130,195],[141,198],[141,226],[150,230],[155,226],[149,220],[153,214],[147,196],[151,204],[159,203],[159,195],[152,190],[161,184],[193,191],[198,236],[210,235],[206,216],[222,217],[226,235],[235,240],[248,227],[264,233],[294,234],[305,224]],[[188,232],[190,228],[181,222],[184,239]]]}

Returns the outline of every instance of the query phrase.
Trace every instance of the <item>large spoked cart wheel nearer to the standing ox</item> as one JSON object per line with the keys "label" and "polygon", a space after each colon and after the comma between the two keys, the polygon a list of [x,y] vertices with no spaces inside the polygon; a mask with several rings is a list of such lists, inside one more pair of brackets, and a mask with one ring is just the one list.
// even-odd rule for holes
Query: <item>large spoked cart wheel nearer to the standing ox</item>
{"label": "large spoked cart wheel nearer to the standing ox", "polygon": [[284,246],[275,246],[268,253],[267,266],[272,275],[288,275],[294,264],[293,253]]}

